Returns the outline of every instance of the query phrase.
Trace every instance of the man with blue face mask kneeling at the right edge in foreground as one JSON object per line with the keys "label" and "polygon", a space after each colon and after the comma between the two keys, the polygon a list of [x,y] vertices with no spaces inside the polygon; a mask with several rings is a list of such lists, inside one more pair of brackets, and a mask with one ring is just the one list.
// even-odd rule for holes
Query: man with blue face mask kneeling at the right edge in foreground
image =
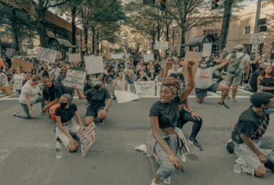
{"label": "man with blue face mask kneeling at the right edge in foreground", "polygon": [[[251,107],[245,110],[232,133],[234,152],[241,160],[241,168],[248,174],[265,176],[265,167],[274,172],[274,137],[265,134],[274,113],[274,95],[258,92],[251,95]],[[260,149],[270,149],[268,155]]]}

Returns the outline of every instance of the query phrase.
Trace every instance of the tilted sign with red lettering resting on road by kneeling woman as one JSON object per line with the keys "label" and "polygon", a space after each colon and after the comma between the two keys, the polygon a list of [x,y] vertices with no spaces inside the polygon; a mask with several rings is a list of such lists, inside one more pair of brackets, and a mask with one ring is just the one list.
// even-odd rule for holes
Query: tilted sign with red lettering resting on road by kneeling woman
{"label": "tilted sign with red lettering resting on road by kneeling woman", "polygon": [[81,151],[82,157],[85,157],[87,154],[88,149],[93,145],[95,142],[95,125],[94,123],[88,127],[85,127],[85,131],[80,134],[80,143],[81,143]]}

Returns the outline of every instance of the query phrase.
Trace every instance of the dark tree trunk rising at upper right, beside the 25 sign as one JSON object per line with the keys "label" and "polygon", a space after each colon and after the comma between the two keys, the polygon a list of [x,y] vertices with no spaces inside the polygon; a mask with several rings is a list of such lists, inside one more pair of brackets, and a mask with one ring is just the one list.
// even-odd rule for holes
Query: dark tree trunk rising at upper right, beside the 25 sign
{"label": "dark tree trunk rising at upper right, beside the 25 sign", "polygon": [[218,52],[220,53],[223,48],[226,47],[226,39],[228,36],[229,23],[231,21],[233,0],[224,1],[224,11],[223,11],[223,24],[221,26],[221,39],[219,43]]}

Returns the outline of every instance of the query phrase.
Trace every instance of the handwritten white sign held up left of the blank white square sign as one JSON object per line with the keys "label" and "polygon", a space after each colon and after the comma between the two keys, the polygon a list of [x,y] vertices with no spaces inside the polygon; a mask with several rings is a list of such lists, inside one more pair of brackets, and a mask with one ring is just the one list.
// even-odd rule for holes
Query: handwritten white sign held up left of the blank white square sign
{"label": "handwritten white sign held up left of the blank white square sign", "polygon": [[76,88],[83,89],[85,85],[85,76],[86,73],[83,71],[68,69],[63,85],[67,87],[76,85]]}

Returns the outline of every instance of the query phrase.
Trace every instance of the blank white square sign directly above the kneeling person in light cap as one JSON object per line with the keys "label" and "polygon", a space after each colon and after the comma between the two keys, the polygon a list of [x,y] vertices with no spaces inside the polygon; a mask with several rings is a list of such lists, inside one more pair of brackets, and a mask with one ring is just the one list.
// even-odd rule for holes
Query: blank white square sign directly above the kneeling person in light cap
{"label": "blank white square sign directly above the kneeling person in light cap", "polygon": [[104,63],[102,56],[85,56],[85,69],[88,75],[102,73],[104,71]]}

